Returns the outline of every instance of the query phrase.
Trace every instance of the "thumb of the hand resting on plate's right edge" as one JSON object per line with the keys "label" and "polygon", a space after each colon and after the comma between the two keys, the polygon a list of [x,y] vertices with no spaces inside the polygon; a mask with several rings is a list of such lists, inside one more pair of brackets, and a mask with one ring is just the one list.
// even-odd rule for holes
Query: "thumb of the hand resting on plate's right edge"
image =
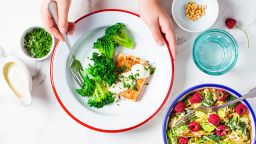
{"label": "thumb of the hand resting on plate's right edge", "polygon": [[163,45],[164,40],[163,40],[161,31],[160,31],[158,20],[148,23],[148,26],[149,26],[149,28],[150,28],[153,36],[154,36],[154,39],[155,39],[156,43],[158,45]]}

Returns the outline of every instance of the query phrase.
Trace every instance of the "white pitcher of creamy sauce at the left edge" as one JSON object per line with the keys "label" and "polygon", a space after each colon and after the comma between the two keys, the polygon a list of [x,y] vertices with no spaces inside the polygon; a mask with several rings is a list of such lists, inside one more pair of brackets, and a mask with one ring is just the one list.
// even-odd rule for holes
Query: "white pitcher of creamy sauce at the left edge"
{"label": "white pitcher of creamy sauce at the left edge", "polygon": [[23,105],[31,104],[32,78],[22,60],[17,57],[5,57],[0,47],[0,84],[14,100]]}

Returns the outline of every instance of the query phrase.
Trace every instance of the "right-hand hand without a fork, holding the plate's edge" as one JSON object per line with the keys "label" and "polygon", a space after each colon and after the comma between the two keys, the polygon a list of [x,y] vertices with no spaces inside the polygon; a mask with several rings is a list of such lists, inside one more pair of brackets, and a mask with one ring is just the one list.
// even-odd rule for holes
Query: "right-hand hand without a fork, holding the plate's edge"
{"label": "right-hand hand without a fork, holding the plate's edge", "polygon": [[160,0],[139,0],[139,10],[142,20],[149,26],[156,42],[164,44],[162,33],[165,34],[173,58],[176,56],[176,38],[173,32],[171,18],[163,9]]}

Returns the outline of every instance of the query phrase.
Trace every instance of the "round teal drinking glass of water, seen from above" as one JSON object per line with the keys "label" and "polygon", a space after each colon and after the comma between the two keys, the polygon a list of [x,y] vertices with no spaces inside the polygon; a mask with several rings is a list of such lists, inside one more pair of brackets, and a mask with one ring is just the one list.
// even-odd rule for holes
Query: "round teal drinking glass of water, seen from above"
{"label": "round teal drinking glass of water, seen from above", "polygon": [[237,42],[224,30],[207,30],[194,41],[193,60],[206,74],[222,75],[228,72],[235,66],[237,58]]}

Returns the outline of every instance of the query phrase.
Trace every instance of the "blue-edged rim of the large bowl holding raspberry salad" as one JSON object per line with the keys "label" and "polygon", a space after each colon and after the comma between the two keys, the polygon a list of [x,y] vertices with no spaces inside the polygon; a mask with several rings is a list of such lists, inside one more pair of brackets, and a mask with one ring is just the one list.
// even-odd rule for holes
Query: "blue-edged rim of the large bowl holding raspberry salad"
{"label": "blue-edged rim of the large bowl holding raspberry salad", "polygon": [[[165,114],[164,122],[162,125],[162,136],[163,136],[164,144],[168,144],[166,130],[167,130],[168,122],[169,122],[169,115],[171,114],[172,109],[175,106],[175,104],[178,101],[183,100],[187,96],[188,93],[192,93],[199,89],[204,89],[204,88],[220,88],[220,89],[223,89],[223,90],[229,92],[230,94],[232,94],[235,97],[241,97],[241,94],[239,94],[237,91],[235,91],[229,87],[226,87],[224,85],[219,85],[219,84],[201,84],[201,85],[196,85],[194,87],[191,87],[191,88],[185,90],[177,98],[175,98],[175,100],[172,102],[172,104],[170,105],[170,107],[168,108],[168,110]],[[243,102],[243,104],[246,105],[246,107],[250,111],[250,118],[251,118],[251,125],[252,125],[251,139],[252,139],[252,144],[256,144],[256,133],[255,133],[256,116],[255,116],[255,113],[254,113],[252,107],[250,106],[250,104],[246,100],[243,100],[242,102]]]}

